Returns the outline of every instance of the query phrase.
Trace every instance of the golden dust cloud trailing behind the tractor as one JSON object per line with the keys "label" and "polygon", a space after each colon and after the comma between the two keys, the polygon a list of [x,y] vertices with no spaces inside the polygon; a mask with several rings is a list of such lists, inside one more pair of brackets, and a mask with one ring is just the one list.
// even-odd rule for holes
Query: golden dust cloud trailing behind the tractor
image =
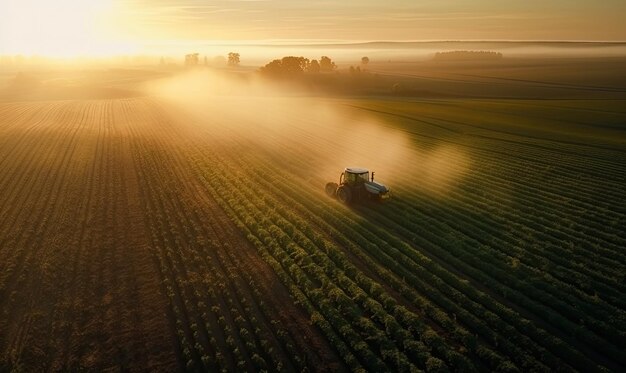
{"label": "golden dust cloud trailing behind the tractor", "polygon": [[[409,133],[341,99],[307,96],[302,87],[253,74],[192,71],[146,85],[151,96],[193,118],[187,130],[253,144],[275,159],[302,159],[314,183],[338,180],[344,167],[365,167],[394,188],[440,194],[463,177],[467,154],[453,146],[424,149]],[[322,190],[322,189],[320,189]]]}

